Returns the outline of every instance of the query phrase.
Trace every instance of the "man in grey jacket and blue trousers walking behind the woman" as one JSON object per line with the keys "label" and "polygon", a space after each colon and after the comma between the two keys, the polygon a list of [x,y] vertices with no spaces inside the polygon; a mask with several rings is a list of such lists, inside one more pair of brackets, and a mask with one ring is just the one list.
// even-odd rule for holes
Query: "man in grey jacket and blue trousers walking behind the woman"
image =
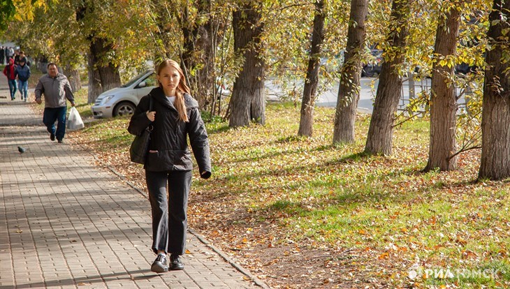
{"label": "man in grey jacket and blue trousers walking behind the woman", "polygon": [[[62,143],[66,134],[66,98],[74,106],[73,91],[66,75],[59,73],[57,64],[48,64],[48,74],[43,75],[36,86],[36,103],[41,104],[44,94],[43,123],[50,133],[50,140]],[[58,120],[57,129],[55,121]]]}

